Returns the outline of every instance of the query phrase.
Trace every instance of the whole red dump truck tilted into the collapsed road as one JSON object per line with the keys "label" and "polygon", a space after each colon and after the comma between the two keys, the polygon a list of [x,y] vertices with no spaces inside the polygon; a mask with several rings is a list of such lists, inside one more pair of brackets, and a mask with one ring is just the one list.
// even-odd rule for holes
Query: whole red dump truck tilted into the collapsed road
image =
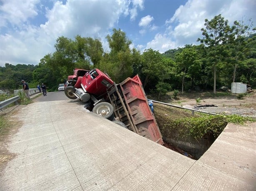
{"label": "whole red dump truck tilted into the collapsed road", "polygon": [[65,88],[65,95],[80,99],[93,113],[121,122],[127,129],[163,144],[138,75],[116,84],[107,74],[93,69],[78,76],[73,86]]}

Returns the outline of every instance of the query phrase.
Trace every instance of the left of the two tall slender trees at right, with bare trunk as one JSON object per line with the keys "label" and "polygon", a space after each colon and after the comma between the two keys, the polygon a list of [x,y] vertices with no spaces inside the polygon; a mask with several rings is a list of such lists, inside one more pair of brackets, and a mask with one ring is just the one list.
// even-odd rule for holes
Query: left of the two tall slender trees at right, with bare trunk
{"label": "left of the two tall slender trees at right, with bare trunk", "polygon": [[198,38],[202,44],[207,47],[208,61],[213,71],[213,93],[216,93],[216,71],[222,66],[221,61],[226,54],[223,45],[228,41],[231,28],[228,25],[228,20],[224,20],[221,15],[215,16],[212,20],[205,20],[206,27],[202,28],[203,38]]}

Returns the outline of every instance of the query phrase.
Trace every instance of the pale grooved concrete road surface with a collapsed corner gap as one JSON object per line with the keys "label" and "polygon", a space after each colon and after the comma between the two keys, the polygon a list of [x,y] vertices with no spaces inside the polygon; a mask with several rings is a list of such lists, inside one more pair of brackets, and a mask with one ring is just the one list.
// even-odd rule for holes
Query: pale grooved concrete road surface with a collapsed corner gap
{"label": "pale grooved concrete road surface with a collapsed corner gap", "polygon": [[256,123],[229,124],[195,161],[74,100],[35,102],[11,120],[1,191],[256,190]]}

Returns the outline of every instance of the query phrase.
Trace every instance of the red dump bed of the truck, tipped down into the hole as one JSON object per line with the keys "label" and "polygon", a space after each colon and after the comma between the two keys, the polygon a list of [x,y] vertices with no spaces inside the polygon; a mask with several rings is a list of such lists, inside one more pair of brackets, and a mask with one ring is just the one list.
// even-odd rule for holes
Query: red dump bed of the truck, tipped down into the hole
{"label": "red dump bed of the truck, tipped down into the hole", "polygon": [[108,89],[110,103],[114,106],[115,118],[129,130],[154,142],[163,144],[156,119],[148,106],[148,99],[138,75],[127,78]]}

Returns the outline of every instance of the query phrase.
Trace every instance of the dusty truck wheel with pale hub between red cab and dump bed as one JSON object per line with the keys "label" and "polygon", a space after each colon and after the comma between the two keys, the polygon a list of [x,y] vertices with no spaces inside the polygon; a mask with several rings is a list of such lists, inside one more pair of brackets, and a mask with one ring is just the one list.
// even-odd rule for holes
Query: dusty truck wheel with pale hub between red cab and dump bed
{"label": "dusty truck wheel with pale hub between red cab and dump bed", "polygon": [[93,113],[96,113],[108,120],[112,120],[114,117],[114,108],[108,102],[101,102],[94,106]]}

